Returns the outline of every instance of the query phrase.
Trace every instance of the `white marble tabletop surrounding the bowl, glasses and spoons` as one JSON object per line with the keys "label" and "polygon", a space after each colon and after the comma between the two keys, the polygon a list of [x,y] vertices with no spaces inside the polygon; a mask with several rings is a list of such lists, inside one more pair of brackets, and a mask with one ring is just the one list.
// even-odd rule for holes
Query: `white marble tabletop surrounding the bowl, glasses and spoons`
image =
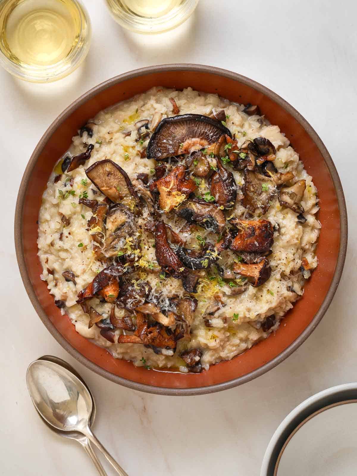
{"label": "white marble tabletop surrounding the bowl, glasses and spoons", "polygon": [[[122,30],[104,2],[85,0],[93,42],[77,73],[33,85],[0,70],[0,475],[96,475],[75,442],[52,434],[30,401],[25,372],[42,354],[67,359],[98,406],[94,429],[129,475],[257,475],[270,437],[300,401],[356,380],[356,16],[350,0],[201,0],[171,33]],[[232,69],[287,99],[335,160],[349,213],[345,271],[326,316],[292,356],[258,379],[200,397],[159,397],[119,387],[78,364],[50,336],[22,286],[13,245],[19,182],[43,132],[80,94],[142,66],[196,62]],[[110,474],[110,471],[109,471]]]}

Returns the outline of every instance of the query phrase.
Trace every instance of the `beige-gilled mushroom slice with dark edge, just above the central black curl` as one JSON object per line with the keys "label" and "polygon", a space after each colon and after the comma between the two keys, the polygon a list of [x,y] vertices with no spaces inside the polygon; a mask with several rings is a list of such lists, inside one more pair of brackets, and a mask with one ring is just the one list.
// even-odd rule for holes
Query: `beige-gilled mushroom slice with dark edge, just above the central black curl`
{"label": "beige-gilled mushroom slice with dark edge, just above the central black curl", "polygon": [[214,203],[193,198],[186,200],[176,209],[177,215],[185,218],[189,223],[197,223],[206,229],[221,233],[226,223],[223,211]]}

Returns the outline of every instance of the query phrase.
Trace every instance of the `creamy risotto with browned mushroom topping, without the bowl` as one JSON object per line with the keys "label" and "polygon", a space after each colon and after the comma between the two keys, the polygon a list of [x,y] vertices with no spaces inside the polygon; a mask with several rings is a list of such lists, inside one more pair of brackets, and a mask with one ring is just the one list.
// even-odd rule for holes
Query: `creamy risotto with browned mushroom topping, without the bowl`
{"label": "creamy risotto with browned mushroom topping, without the bowl", "polygon": [[153,88],[99,112],[59,158],[41,278],[114,357],[200,372],[268,337],[302,297],[317,211],[299,155],[257,106]]}

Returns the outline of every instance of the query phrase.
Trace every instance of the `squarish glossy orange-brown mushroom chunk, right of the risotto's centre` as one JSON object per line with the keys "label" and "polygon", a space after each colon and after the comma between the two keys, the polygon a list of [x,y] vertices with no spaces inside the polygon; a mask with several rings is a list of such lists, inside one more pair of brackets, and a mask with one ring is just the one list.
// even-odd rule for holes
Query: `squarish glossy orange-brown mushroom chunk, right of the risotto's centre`
{"label": "squarish glossy orange-brown mushroom chunk, right of the risotto's centre", "polygon": [[233,251],[264,253],[272,247],[274,230],[270,221],[232,218],[230,223],[239,230],[230,247]]}

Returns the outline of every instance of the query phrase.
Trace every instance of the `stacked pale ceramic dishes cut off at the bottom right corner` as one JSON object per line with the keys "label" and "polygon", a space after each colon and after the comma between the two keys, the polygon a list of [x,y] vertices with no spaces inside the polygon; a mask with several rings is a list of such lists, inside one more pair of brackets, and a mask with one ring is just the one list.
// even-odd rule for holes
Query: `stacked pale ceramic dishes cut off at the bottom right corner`
{"label": "stacked pale ceramic dishes cut off at the bottom right corner", "polygon": [[[338,419],[345,421],[346,418],[348,419],[346,410],[350,415],[350,421],[354,421],[356,402],[357,382],[327,388],[300,403],[284,418],[272,436],[261,465],[261,476],[279,476],[280,473],[282,475],[285,473],[289,475],[292,473],[324,474],[320,471],[324,465],[326,475],[355,474],[356,467],[351,472],[343,470],[339,472],[337,468],[339,466],[339,469],[342,469],[341,466],[344,466],[343,469],[347,470],[352,456],[356,461],[355,426],[351,425],[347,428],[342,421],[338,422]],[[354,407],[346,408],[348,403],[353,404]],[[329,410],[335,411],[335,414],[330,414]],[[333,421],[335,423],[331,423]],[[300,430],[301,435],[299,435]],[[348,436],[352,437],[349,443]],[[299,440],[300,437],[303,439]],[[292,447],[289,448],[289,445]],[[290,449],[294,451],[291,453]],[[299,451],[301,454],[296,454]],[[326,451],[330,454],[327,455]],[[334,452],[335,456],[332,457]],[[302,461],[299,461],[299,456]],[[300,465],[300,469],[303,468],[300,473],[291,470],[294,458],[298,461],[295,466]],[[318,467],[316,467],[317,464]],[[289,465],[290,471],[287,473],[286,467]],[[327,468],[326,465],[328,465]]]}

